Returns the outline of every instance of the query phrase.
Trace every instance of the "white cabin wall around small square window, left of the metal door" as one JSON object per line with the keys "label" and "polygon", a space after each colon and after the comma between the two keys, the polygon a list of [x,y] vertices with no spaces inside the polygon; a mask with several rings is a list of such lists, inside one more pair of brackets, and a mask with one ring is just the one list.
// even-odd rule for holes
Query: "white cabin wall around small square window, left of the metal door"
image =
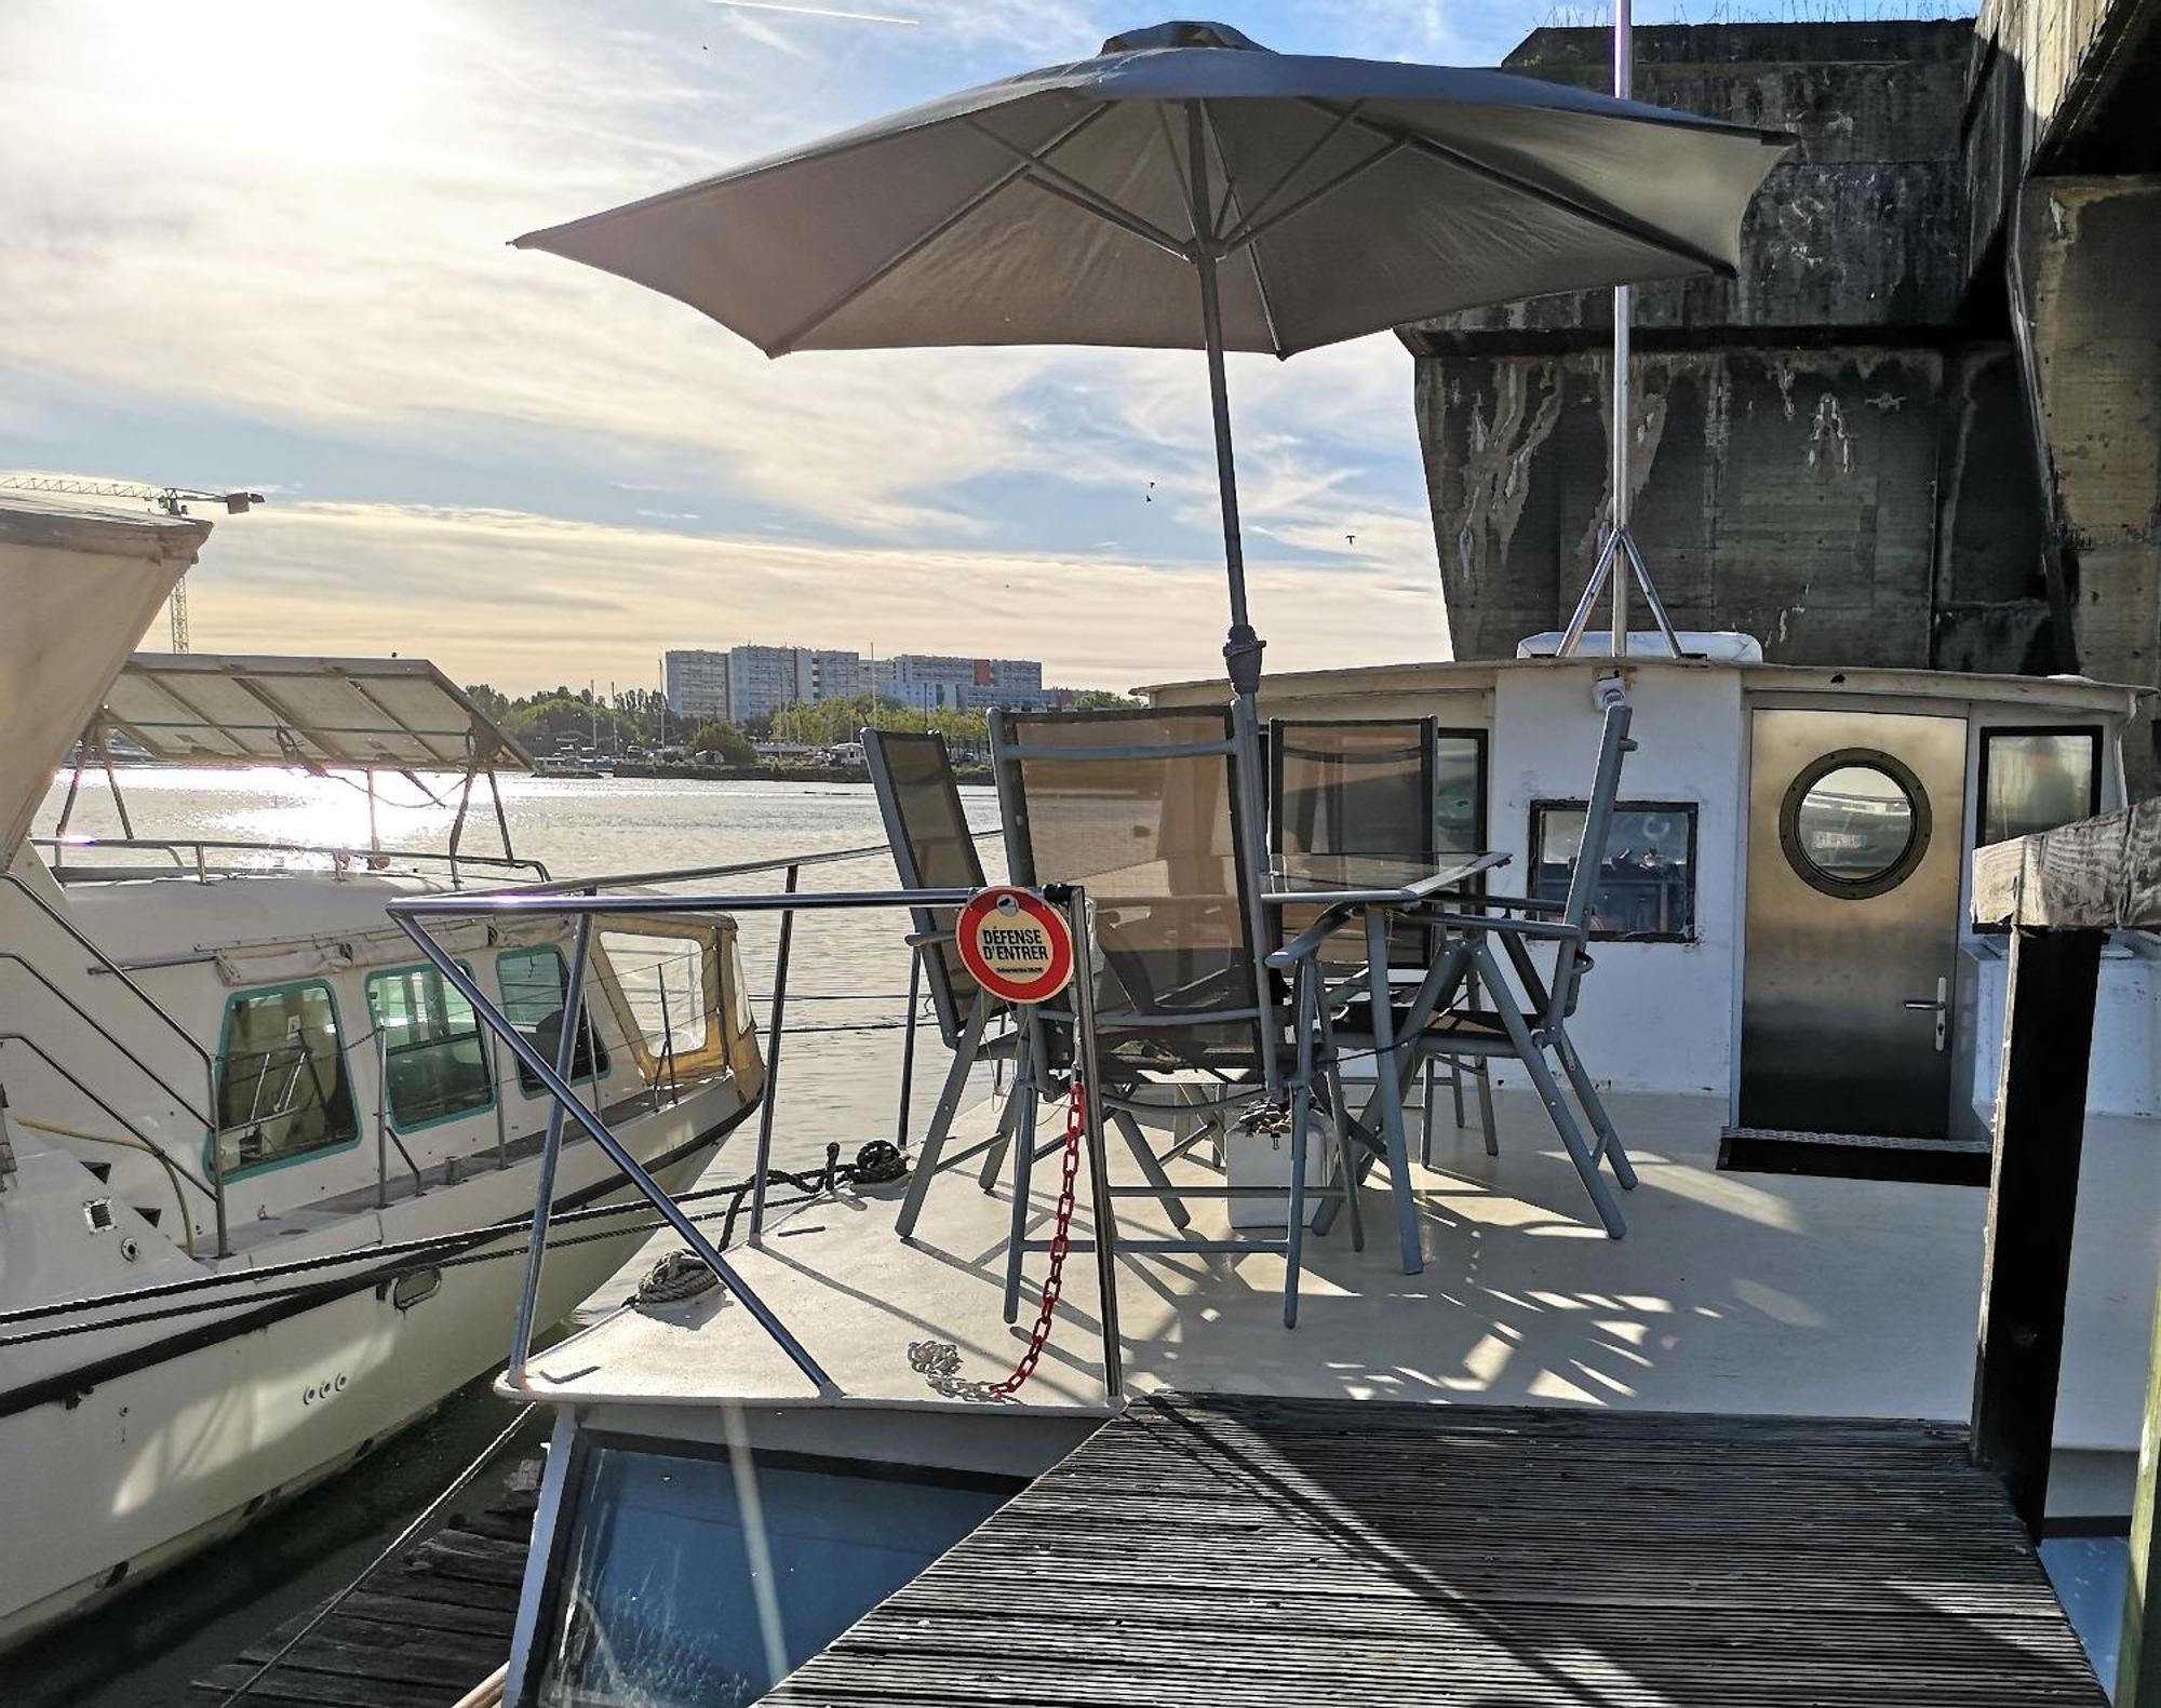
{"label": "white cabin wall around small square window, left of the metal door", "polygon": [[[1487,841],[1513,856],[1495,891],[1530,882],[1530,804],[1590,793],[1601,722],[1590,685],[1601,672],[1504,670],[1493,685]],[[1599,1085],[1724,1096],[1740,969],[1742,677],[1692,666],[1638,666],[1629,677],[1638,746],[1621,770],[1621,800],[1696,804],[1696,940],[1593,943],[1597,966],[1569,1031]],[[1521,1085],[1521,1068],[1495,1064],[1493,1083]]]}

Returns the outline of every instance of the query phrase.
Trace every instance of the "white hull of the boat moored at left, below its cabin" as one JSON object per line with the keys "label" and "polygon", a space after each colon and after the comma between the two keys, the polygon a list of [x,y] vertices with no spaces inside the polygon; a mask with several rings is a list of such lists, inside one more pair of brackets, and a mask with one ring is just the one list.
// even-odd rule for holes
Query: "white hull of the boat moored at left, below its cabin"
{"label": "white hull of the boat moored at left, below its cabin", "polygon": [[[663,1187],[681,1191],[741,1113],[735,1083],[724,1081],[672,1109],[622,1122],[618,1137]],[[536,1170],[538,1161],[527,1159],[393,1204],[367,1217],[380,1224],[380,1241],[370,1237],[365,1245],[354,1239],[352,1219],[339,1219],[320,1239],[292,1239],[274,1260],[341,1250],[365,1256],[376,1243],[529,1215]],[[571,1142],[555,1202],[614,1176],[596,1146]],[[625,1191],[590,1202],[620,1202]],[[568,1315],[644,1237],[581,1239],[588,1232],[599,1228],[571,1226],[551,1241],[536,1321]],[[501,1362],[525,1278],[525,1235],[473,1250],[508,1256],[441,1267],[441,1286],[406,1308],[389,1286],[363,1286],[99,1379],[76,1399],[0,1416],[0,1647],[236,1533]],[[311,1278],[272,1278],[264,1286],[290,1289],[296,1280]],[[110,1315],[140,1312],[112,1306]],[[214,1321],[216,1315],[175,1317],[43,1343],[26,1349],[45,1353],[35,1371],[24,1369],[19,1353],[0,1351],[0,1392],[48,1373],[56,1345],[67,1347],[65,1369],[80,1369]]]}

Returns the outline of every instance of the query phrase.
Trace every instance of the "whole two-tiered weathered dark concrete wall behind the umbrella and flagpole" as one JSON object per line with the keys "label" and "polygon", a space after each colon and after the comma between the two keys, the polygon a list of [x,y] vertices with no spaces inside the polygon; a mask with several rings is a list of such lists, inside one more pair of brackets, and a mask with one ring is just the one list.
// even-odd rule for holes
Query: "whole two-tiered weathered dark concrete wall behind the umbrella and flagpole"
{"label": "whole two-tiered weathered dark concrete wall behind the umbrella and flagpole", "polygon": [[[1791,128],[1737,279],[1636,292],[1634,534],[1683,627],[1774,659],[2051,668],[2038,478],[2005,329],[1962,324],[1964,24],[1638,32],[1645,99]],[[1606,76],[1603,30],[1511,69]],[[1603,292],[1407,329],[1450,629],[1558,627],[1608,510]]]}

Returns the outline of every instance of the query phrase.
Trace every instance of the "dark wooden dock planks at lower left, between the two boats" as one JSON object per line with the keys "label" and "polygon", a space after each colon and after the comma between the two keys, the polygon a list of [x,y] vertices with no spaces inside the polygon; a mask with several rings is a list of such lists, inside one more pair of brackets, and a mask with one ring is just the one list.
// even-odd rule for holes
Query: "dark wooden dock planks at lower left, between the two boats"
{"label": "dark wooden dock planks at lower left, between the two boats", "polygon": [[[532,1479],[527,1479],[532,1481]],[[246,1708],[452,1708],[504,1665],[532,1539],[534,1496],[460,1513],[391,1561],[240,1699]],[[316,1609],[194,1682],[225,1702]]]}

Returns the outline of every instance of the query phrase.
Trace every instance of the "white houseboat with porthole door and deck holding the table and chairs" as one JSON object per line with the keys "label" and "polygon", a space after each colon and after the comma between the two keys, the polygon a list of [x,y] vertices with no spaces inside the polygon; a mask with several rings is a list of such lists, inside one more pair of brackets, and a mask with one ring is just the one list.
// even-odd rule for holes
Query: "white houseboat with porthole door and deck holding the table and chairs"
{"label": "white houseboat with porthole door and deck holding the table and chairs", "polygon": [[[2118,806],[2135,692],[1770,666],[1733,636],[1683,646],[1621,672],[1640,746],[1571,1020],[1640,1172],[1625,1239],[1498,1062],[1495,1155],[1446,1098],[1431,1135],[1407,1109],[1413,1148],[1431,1137],[1413,1176],[1422,1273],[1394,1239],[1310,1237],[1286,1330],[1279,1252],[1128,1250],[1109,1265],[1115,1312],[1096,1265],[1074,1263],[1039,1369],[990,1403],[981,1384],[1026,1345],[1001,1310],[1011,1230],[1039,1232],[1055,1167],[1037,1165],[1018,1224],[1011,1170],[983,1189],[972,1165],[934,1176],[910,1239],[899,1189],[795,1211],[726,1252],[735,1286],[618,1310],[504,1379],[555,1407],[504,1699],[759,1695],[1150,1395],[1964,1418],[2005,979],[2005,938],[1971,923],[1969,856]],[[1262,711],[1435,718],[1444,837],[1506,854],[1504,889],[1552,891],[1614,666],[1549,651],[1286,672]],[[1150,698],[1219,707],[1223,685]],[[845,912],[849,932],[880,921],[901,930]],[[2049,1481],[2051,1520],[2077,1529],[2131,1511],[2161,1258],[2155,975],[2148,936],[2109,945]],[[988,1094],[988,1072],[972,1087]],[[964,1135],[1001,1107],[985,1096]],[[1227,1144],[1223,1172],[1171,1144],[1167,1167],[1258,1193],[1271,1144]],[[1273,1170],[1281,1193],[1279,1155]],[[1113,1180],[1141,1185],[1122,1159]],[[1379,1176],[1366,1202],[1368,1230],[1385,1224]],[[1189,1209],[1193,1232],[1240,1239],[1221,1200]],[[1122,1241],[1171,1232],[1147,1196],[1115,1219]],[[1102,1232],[1087,1193],[1076,1232]],[[1026,1260],[1031,1295],[1042,1263]],[[931,1689],[942,1663],[895,1665],[914,1682],[892,1689]]]}

